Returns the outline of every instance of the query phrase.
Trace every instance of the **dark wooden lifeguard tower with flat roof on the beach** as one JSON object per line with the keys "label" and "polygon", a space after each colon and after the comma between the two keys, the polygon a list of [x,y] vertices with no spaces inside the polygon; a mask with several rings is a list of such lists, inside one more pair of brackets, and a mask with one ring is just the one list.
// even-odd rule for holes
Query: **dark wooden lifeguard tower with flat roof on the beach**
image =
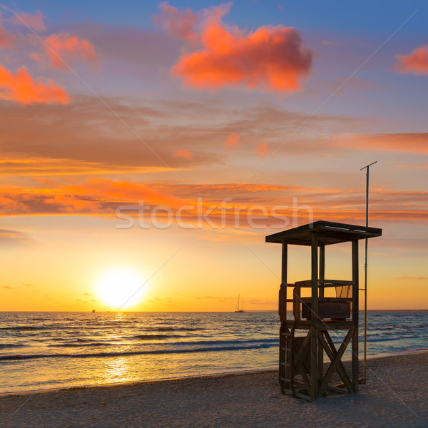
{"label": "dark wooden lifeguard tower with flat roof on the beach", "polygon": [[[327,392],[358,392],[358,240],[381,235],[382,229],[316,221],[266,237],[267,243],[282,244],[279,293],[282,394],[314,400]],[[325,246],[347,242],[352,245],[352,280],[325,279]],[[310,280],[287,283],[288,245],[310,246]],[[301,297],[302,288],[309,289],[309,297]],[[332,291],[335,297],[325,297]],[[287,303],[292,303],[289,320]],[[338,349],[330,336],[335,330],[342,330],[345,335]],[[342,356],[350,342],[352,368],[348,374]],[[330,359],[325,372],[324,354]],[[342,384],[330,384],[335,372]]]}

